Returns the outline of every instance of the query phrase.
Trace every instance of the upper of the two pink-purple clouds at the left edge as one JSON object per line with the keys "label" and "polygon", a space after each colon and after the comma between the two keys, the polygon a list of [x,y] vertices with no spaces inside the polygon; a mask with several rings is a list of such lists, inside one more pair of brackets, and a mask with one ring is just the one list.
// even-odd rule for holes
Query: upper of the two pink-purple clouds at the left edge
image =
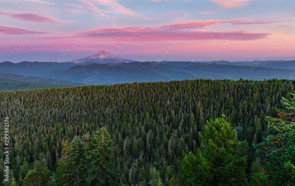
{"label": "upper of the two pink-purple clouds at the left edge", "polygon": [[27,21],[27,22],[36,22],[36,23],[43,23],[48,22],[51,24],[62,24],[65,22],[73,22],[73,21],[59,21],[55,17],[46,16],[38,12],[19,12],[19,13],[13,13],[13,12],[1,12],[4,15],[8,15],[9,17],[12,17],[14,19],[18,19],[21,21]]}

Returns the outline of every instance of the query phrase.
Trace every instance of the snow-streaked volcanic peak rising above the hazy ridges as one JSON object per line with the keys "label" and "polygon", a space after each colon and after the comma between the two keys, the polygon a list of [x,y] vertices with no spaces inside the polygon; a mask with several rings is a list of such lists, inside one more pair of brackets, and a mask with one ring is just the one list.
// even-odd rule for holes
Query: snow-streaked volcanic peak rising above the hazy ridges
{"label": "snow-streaked volcanic peak rising above the hazy ridges", "polygon": [[116,57],[103,50],[98,52],[96,55],[92,55],[83,59],[69,61],[73,63],[85,63],[85,62],[95,62],[95,63],[128,63],[135,62],[134,60],[127,60],[122,57]]}

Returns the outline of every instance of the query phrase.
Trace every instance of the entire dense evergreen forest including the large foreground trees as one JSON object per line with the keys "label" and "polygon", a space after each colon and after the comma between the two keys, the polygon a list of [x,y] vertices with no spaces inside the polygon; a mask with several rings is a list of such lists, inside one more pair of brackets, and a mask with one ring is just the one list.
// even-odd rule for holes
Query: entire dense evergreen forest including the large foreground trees
{"label": "entire dense evergreen forest including the large foreground trees", "polygon": [[295,80],[0,91],[2,185],[294,186]]}

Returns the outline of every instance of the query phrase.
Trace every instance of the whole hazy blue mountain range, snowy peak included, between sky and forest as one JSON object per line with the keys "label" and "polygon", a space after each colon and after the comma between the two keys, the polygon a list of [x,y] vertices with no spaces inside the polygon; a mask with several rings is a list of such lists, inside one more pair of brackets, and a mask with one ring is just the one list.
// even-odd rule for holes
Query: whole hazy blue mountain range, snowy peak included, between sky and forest
{"label": "whole hazy blue mountain range, snowy peak included, between sky and forest", "polygon": [[[86,59],[86,58],[85,58]],[[85,62],[93,59],[96,62]],[[117,84],[185,79],[295,79],[295,60],[255,62],[135,62],[100,51],[73,62],[2,62],[0,78],[46,84]],[[8,74],[9,73],[9,74]],[[22,76],[19,76],[22,75]],[[48,79],[51,78],[51,79]],[[65,81],[67,80],[67,81]],[[76,82],[76,83],[73,83]]]}

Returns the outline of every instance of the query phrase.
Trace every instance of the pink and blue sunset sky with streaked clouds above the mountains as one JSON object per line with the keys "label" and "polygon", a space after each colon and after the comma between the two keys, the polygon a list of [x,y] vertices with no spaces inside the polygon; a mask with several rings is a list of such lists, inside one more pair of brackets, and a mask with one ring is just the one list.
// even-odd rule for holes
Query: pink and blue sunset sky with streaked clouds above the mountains
{"label": "pink and blue sunset sky with streaked clouds above the mountains", "polygon": [[1,0],[0,62],[295,60],[294,0]]}

